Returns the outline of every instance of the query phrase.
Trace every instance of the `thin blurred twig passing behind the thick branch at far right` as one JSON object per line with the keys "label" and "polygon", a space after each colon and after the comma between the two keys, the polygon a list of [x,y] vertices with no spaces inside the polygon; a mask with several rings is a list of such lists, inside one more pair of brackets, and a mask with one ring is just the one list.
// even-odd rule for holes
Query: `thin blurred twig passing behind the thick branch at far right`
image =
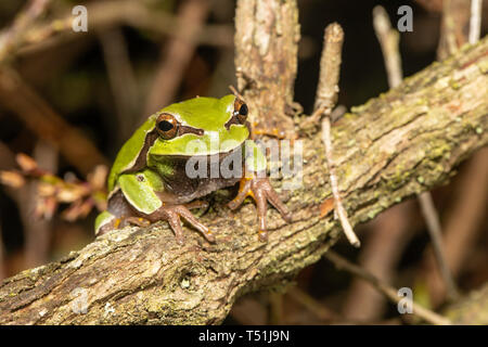
{"label": "thin blurred twig passing behind the thick branch at far right", "polygon": [[[398,31],[391,28],[388,14],[381,5],[377,5],[373,9],[373,25],[376,37],[382,47],[383,56],[385,59],[388,85],[390,88],[396,88],[401,83],[401,80],[403,79],[401,70],[401,56],[398,47]],[[438,266],[440,268],[440,273],[442,274],[442,280],[448,290],[449,297],[454,299],[459,296],[459,294],[446,260],[439,216],[434,206],[432,194],[429,192],[424,192],[418,195],[418,200],[421,206],[422,214],[427,223],[427,230],[431,235]]]}

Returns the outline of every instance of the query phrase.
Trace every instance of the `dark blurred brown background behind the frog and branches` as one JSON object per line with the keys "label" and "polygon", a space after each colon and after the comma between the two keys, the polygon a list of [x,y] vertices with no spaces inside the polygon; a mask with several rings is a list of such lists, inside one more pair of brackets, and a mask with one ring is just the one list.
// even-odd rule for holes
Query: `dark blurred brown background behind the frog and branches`
{"label": "dark blurred brown background behind the frog and branches", "polygon": [[[25,4],[1,1],[0,27],[9,27]],[[33,43],[24,44],[3,62],[15,68],[22,83],[14,83],[10,91],[5,83],[0,88],[0,169],[14,168],[14,155],[23,152],[61,177],[76,175],[85,180],[94,164],[112,163],[151,112],[194,95],[220,97],[229,93],[229,85],[235,86],[234,1],[56,0],[41,23],[66,17],[76,4],[88,8],[88,33],[34,36]],[[301,41],[295,100],[306,113],[313,106],[323,29],[332,22],[338,22],[345,31],[338,104],[349,108],[388,90],[372,25],[376,4],[386,9],[394,25],[400,17],[400,5],[413,9],[413,31],[400,35],[404,76],[437,60],[440,0],[299,0]],[[486,8],[485,1],[481,37],[487,31]],[[178,27],[177,17],[188,26]],[[192,28],[196,35],[191,34]],[[10,77],[1,74],[1,78]],[[52,113],[80,131],[98,156],[84,149],[79,150],[79,160],[60,155],[52,139],[67,130]],[[39,123],[29,125],[34,118]],[[53,133],[40,137],[42,126]],[[67,141],[65,145],[77,147],[79,143]],[[448,262],[462,292],[488,280],[487,155],[477,158],[465,162],[448,185],[433,191],[442,229],[449,233],[445,240]],[[29,185],[22,190],[0,187],[0,278],[59,259],[93,239],[95,211],[76,222],[57,214],[50,221],[35,220],[35,207],[29,203],[33,192]],[[434,274],[431,240],[414,198],[356,229],[363,247],[354,249],[344,241],[335,246],[338,253],[397,287],[414,288],[415,299],[429,307],[447,303]],[[396,306],[324,259],[304,269],[296,282],[284,296],[260,293],[242,298],[226,322],[401,322]]]}

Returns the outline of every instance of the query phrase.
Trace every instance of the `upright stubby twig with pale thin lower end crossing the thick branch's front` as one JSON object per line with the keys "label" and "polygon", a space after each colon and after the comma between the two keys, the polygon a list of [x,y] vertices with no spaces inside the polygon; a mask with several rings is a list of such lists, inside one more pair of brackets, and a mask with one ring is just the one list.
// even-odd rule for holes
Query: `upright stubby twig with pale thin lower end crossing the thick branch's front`
{"label": "upright stubby twig with pale thin lower end crossing the thick branch's front", "polygon": [[[325,158],[328,163],[329,177],[331,181],[332,195],[334,196],[334,207],[336,216],[343,226],[347,240],[355,247],[361,243],[356,236],[347,211],[341,201],[341,194],[337,185],[337,176],[332,159],[332,140],[331,140],[331,113],[337,101],[338,79],[341,73],[341,54],[344,42],[344,31],[341,25],[332,23],[328,25],[324,34],[324,47],[320,61],[320,79],[316,97],[316,115],[323,115],[322,120],[322,141],[325,146]],[[312,116],[313,117],[313,116]]]}

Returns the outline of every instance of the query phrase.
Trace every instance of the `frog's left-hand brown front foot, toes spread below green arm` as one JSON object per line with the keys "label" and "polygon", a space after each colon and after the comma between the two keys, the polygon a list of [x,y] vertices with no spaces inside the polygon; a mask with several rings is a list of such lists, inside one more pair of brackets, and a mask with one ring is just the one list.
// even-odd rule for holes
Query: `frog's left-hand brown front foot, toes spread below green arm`
{"label": "frog's left-hand brown front foot, toes spread below green arm", "polygon": [[184,243],[183,229],[181,228],[180,217],[183,217],[190,224],[195,227],[208,242],[215,242],[211,231],[202,224],[198,219],[192,215],[189,208],[201,208],[205,206],[205,202],[194,202],[185,205],[167,205],[163,204],[159,209],[147,216],[151,221],[166,220],[175,232],[177,242],[182,245]]}

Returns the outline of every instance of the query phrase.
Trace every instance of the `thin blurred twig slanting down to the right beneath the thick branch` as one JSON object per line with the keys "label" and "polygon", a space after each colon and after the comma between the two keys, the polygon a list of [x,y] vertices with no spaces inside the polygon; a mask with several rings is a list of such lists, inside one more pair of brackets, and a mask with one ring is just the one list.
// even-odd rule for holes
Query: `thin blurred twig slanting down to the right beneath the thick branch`
{"label": "thin blurred twig slanting down to the right beneath the thick branch", "polygon": [[[393,303],[398,304],[401,300],[401,296],[398,296],[398,291],[389,286],[388,284],[381,281],[378,278],[373,275],[372,273],[365,271],[364,269],[358,267],[357,265],[354,265],[346,258],[339,256],[333,250],[329,250],[325,254],[325,258],[328,258],[330,261],[332,261],[338,269],[346,270],[354,275],[357,275],[364,281],[368,281],[371,285],[373,285],[377,291],[380,291],[383,295],[385,295],[388,299],[390,299]],[[412,308],[413,308],[413,314],[424,319],[425,321],[435,324],[435,325],[450,325],[452,324],[451,321],[436,312],[433,312],[414,301],[412,301]]]}

